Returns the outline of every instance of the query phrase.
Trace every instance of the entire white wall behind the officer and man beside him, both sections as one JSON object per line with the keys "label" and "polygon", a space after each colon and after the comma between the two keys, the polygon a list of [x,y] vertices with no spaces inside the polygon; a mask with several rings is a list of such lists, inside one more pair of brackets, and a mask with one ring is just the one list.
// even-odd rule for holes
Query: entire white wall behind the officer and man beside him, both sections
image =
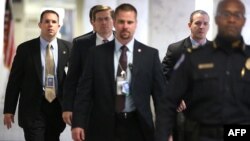
{"label": "entire white wall behind the officer and man beside him, both sections", "polygon": [[[217,33],[214,13],[219,0],[150,0],[149,1],[149,40],[148,44],[159,49],[160,58],[166,54],[167,46],[186,38],[189,34],[188,22],[191,12],[202,9],[210,16],[210,29],[207,34],[213,40]],[[242,35],[250,44],[250,1],[242,0],[246,7],[246,24]]]}

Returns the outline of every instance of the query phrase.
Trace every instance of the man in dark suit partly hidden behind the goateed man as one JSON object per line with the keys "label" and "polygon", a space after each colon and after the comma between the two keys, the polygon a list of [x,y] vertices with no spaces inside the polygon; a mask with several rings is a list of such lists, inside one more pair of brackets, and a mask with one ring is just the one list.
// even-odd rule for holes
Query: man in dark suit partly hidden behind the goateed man
{"label": "man in dark suit partly hidden behind the goateed man", "polygon": [[[104,41],[114,39],[113,13],[109,6],[97,5],[92,10],[92,25],[95,33],[85,34],[73,40],[73,48],[69,61],[69,70],[63,92],[63,120],[71,125],[72,111],[79,78],[85,67],[89,49]],[[104,40],[104,41],[103,41]]]}

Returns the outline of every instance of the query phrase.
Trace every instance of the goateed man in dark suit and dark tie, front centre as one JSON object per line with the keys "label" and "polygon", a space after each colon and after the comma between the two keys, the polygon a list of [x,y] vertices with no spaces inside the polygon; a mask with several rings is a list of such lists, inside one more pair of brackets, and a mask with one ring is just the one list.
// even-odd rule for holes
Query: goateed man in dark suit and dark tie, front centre
{"label": "goateed man in dark suit and dark tie, front centre", "polygon": [[154,140],[150,98],[158,121],[165,113],[165,79],[157,49],[134,39],[136,26],[137,10],[121,4],[115,10],[115,40],[90,50],[73,112],[75,141]]}

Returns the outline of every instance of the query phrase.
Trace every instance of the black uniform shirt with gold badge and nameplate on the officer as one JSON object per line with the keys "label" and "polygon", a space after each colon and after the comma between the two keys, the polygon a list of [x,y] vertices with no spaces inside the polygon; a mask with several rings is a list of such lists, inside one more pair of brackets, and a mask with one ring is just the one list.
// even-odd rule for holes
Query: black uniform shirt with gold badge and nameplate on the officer
{"label": "black uniform shirt with gold badge and nameplate on the officer", "polygon": [[168,85],[167,124],[174,123],[182,98],[187,119],[210,125],[250,123],[250,46],[243,39],[235,44],[217,37],[180,58]]}

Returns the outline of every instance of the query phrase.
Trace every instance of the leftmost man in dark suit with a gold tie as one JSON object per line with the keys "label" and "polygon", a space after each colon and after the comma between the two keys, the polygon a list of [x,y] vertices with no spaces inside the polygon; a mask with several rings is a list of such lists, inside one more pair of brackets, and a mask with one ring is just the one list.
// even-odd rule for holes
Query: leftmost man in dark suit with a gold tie
{"label": "leftmost man in dark suit with a gold tie", "polygon": [[[38,24],[40,37],[18,46],[11,68],[4,124],[11,128],[19,98],[18,123],[26,141],[59,141],[65,128],[60,102],[71,44],[56,38],[58,22],[58,13],[43,11]],[[48,64],[52,64],[51,68]]]}

